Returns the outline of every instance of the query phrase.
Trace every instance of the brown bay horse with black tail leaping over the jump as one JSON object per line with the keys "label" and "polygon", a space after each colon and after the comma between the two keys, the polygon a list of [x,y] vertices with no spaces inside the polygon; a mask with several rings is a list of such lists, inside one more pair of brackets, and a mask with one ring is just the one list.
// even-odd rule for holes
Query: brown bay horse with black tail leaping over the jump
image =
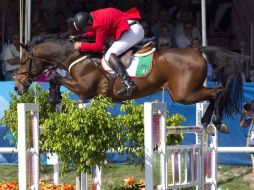
{"label": "brown bay horse with black tail leaping over the jump", "polygon": [[[88,58],[71,67],[71,63],[84,55],[75,50],[74,42],[55,39],[36,45],[22,45],[20,67],[15,79],[15,90],[23,94],[31,82],[45,69],[57,67],[69,71],[71,77],[57,77],[57,82],[77,94],[81,99],[104,94],[113,102],[141,98],[165,88],[173,101],[193,104],[209,101],[201,123],[205,131],[214,135],[211,123],[223,133],[228,127],[222,124],[224,116],[239,112],[242,102],[242,69],[239,55],[218,47],[172,48],[156,51],[152,61],[152,71],[146,78],[132,79],[137,89],[131,96],[119,96],[117,91],[121,81],[100,68],[101,57],[88,54]],[[206,57],[206,58],[205,58]],[[207,61],[214,66],[213,76],[218,85],[206,87]]]}

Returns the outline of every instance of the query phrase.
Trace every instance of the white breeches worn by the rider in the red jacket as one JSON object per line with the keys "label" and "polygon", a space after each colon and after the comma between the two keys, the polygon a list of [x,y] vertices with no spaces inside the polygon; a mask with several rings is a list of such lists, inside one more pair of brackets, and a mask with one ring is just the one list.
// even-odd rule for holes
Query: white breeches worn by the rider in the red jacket
{"label": "white breeches worn by the rider in the red jacket", "polygon": [[[135,22],[128,20],[128,23]],[[136,21],[137,22],[137,21]],[[130,49],[132,46],[139,43],[144,38],[144,29],[140,23],[136,23],[130,26],[130,29],[125,31],[119,40],[115,41],[105,54],[105,60],[108,62],[110,54],[114,53],[119,56],[123,52]]]}

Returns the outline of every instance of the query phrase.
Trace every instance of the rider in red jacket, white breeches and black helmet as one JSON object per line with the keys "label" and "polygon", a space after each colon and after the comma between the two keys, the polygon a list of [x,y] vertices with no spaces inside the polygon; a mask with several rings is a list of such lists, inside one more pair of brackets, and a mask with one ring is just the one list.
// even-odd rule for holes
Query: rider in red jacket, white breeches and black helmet
{"label": "rider in red jacket, white breeches and black helmet", "polygon": [[74,17],[74,27],[86,36],[95,36],[94,43],[76,42],[75,48],[83,52],[100,52],[107,37],[115,41],[105,54],[105,60],[119,75],[122,88],[119,95],[129,95],[136,85],[127,75],[119,55],[140,42],[144,30],[138,20],[141,19],[137,8],[122,12],[115,8],[99,9],[90,13],[80,12]]}

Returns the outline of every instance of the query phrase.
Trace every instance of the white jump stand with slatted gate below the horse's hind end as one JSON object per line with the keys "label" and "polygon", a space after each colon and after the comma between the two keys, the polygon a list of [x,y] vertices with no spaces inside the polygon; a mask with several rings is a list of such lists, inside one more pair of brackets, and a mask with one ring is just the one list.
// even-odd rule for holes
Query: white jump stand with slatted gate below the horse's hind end
{"label": "white jump stand with slatted gate below the horse's hind end", "polygon": [[[204,180],[204,153],[203,153],[203,128],[200,126],[175,126],[166,127],[167,106],[165,103],[144,104],[145,123],[145,187],[146,190],[153,189],[179,189],[186,187],[196,187],[202,190],[205,188]],[[156,124],[154,114],[159,115],[159,123]],[[156,124],[156,125],[154,125]],[[159,124],[159,127],[158,127]],[[196,134],[196,144],[181,146],[166,146],[166,134]],[[154,183],[153,154],[157,149],[160,156],[160,181]],[[183,156],[182,156],[183,155]],[[168,179],[168,161],[172,160],[172,183]],[[185,161],[184,180],[181,180],[181,161]],[[178,173],[175,172],[175,162],[177,162]],[[189,169],[187,169],[189,162]],[[188,179],[188,174],[191,177]],[[178,179],[177,179],[178,178]],[[177,181],[178,180],[178,181]]]}

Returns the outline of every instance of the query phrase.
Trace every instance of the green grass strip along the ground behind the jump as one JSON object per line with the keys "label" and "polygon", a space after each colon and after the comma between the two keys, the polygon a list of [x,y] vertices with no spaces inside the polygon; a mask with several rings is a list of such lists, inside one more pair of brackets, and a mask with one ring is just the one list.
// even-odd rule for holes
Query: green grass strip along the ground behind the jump
{"label": "green grass strip along the ground behind the jump", "polygon": [[[41,168],[41,180],[53,181],[53,167],[46,166]],[[250,175],[252,167],[220,165],[218,168],[218,186],[223,190],[251,190],[254,187],[254,175]],[[135,180],[144,179],[144,171],[140,165],[128,164],[109,164],[102,169],[102,181],[104,190],[112,190],[122,184],[124,178],[133,176]],[[0,165],[0,182],[18,181],[17,165]],[[67,172],[66,176],[61,177],[61,182],[68,184],[75,183],[76,173],[74,170]],[[89,178],[89,181],[91,179]]]}

